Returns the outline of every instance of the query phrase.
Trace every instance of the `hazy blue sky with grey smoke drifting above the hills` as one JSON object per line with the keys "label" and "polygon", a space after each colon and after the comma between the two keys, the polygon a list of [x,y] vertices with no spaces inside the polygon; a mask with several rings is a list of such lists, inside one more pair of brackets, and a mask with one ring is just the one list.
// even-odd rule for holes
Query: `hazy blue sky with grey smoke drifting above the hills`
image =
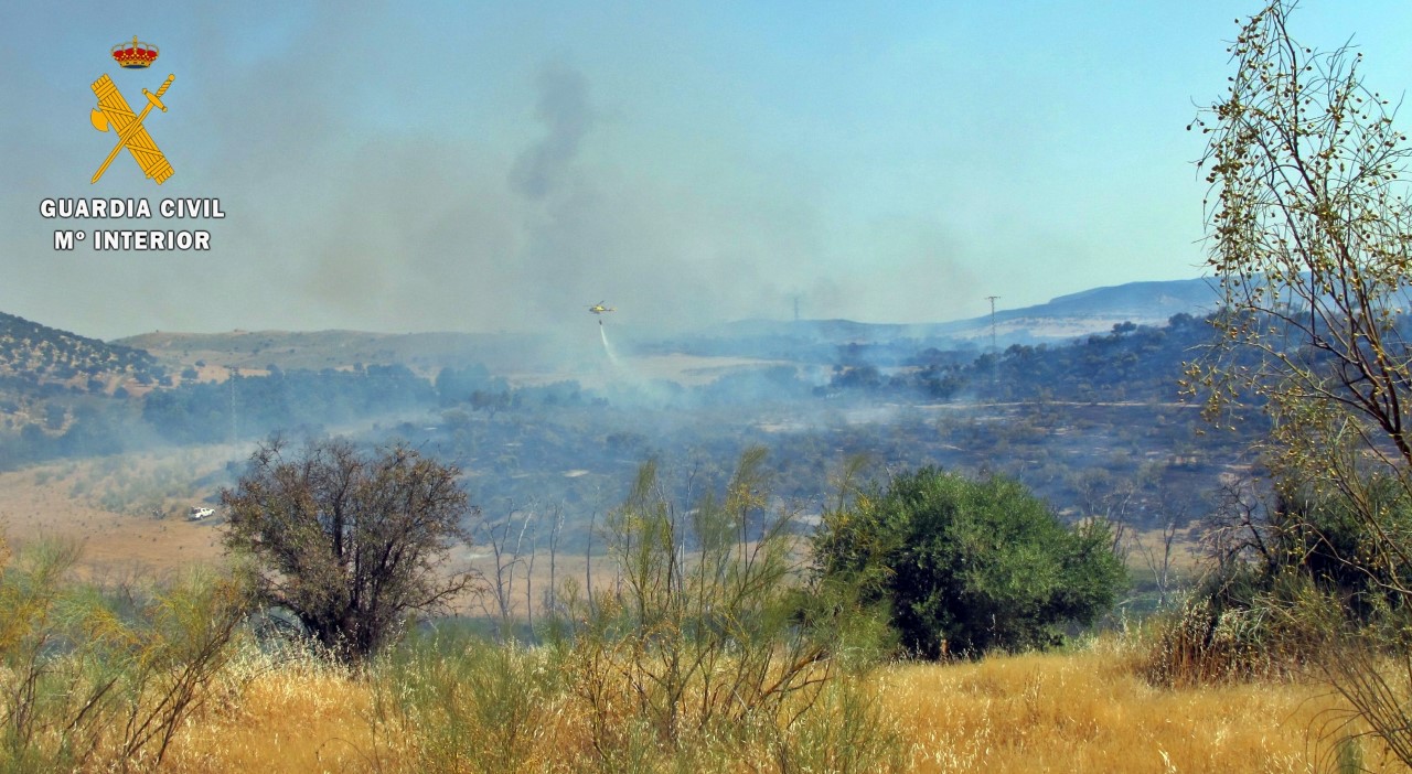
{"label": "hazy blue sky with grey smoke drifting above the hills", "polygon": [[[18,7],[25,6],[25,7]],[[1200,275],[1185,131],[1257,3],[7,3],[0,311],[78,333],[671,329],[981,314]],[[411,8],[411,10],[408,10]],[[1412,4],[1308,0],[1370,85]],[[114,44],[161,48],[123,71]],[[89,123],[110,73],[175,175]],[[44,198],[215,196],[220,222],[59,222]],[[203,253],[55,229],[203,227]]]}

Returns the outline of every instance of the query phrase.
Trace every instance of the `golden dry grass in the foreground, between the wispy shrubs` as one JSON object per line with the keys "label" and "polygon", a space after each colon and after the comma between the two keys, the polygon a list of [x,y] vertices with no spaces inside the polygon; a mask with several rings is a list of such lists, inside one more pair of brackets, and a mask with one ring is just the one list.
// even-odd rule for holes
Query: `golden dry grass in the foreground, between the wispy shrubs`
{"label": "golden dry grass in the foreground, between the wispy shrubs", "polygon": [[[871,679],[884,723],[899,734],[908,771],[1332,767],[1343,716],[1327,689],[1313,684],[1161,689],[1145,684],[1132,664],[1130,645],[1107,638],[1077,653],[899,664]],[[377,727],[366,679],[306,662],[257,671],[241,691],[189,722],[162,770],[417,770],[412,729]],[[552,706],[527,722],[545,727],[524,729],[535,749],[521,760],[534,771],[575,768],[570,760],[585,760],[580,726],[587,708],[572,695],[544,699]],[[556,751],[556,744],[570,749]],[[1371,770],[1395,770],[1378,753],[1364,742]],[[755,763],[761,760],[768,757]]]}

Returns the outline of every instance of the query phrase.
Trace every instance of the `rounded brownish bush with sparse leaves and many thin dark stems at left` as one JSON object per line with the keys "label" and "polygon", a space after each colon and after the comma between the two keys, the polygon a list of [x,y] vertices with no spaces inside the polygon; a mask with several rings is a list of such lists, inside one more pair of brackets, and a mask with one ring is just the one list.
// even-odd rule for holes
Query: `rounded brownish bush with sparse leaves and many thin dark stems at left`
{"label": "rounded brownish bush with sparse leaves and many thin dark stems at left", "polygon": [[323,645],[359,660],[466,590],[446,572],[469,542],[466,492],[452,465],[407,446],[364,453],[352,442],[311,442],[285,456],[260,445],[236,489],[223,490],[226,547],[253,559],[265,602],[289,609]]}

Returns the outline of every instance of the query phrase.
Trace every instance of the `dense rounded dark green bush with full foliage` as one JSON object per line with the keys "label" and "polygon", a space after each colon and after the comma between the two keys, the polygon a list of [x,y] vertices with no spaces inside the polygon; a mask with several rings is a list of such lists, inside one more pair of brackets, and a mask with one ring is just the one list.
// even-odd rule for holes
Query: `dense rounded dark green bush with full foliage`
{"label": "dense rounded dark green bush with full foliage", "polygon": [[816,572],[890,606],[901,644],[928,658],[1058,644],[1125,582],[1107,524],[1067,528],[1015,480],[935,468],[827,511],[813,551]]}

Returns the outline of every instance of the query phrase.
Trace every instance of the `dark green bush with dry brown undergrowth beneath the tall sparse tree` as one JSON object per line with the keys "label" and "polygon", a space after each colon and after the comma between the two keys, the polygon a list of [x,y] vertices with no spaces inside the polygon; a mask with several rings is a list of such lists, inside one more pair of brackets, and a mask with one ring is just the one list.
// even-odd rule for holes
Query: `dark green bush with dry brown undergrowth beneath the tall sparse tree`
{"label": "dark green bush with dry brown undergrowth beneath the tall sparse tree", "polygon": [[[1207,542],[1216,568],[1175,614],[1156,621],[1148,681],[1284,679],[1317,661],[1343,668],[1337,661],[1347,661],[1353,645],[1405,650],[1412,569],[1370,558],[1378,541],[1406,544],[1412,508],[1395,482],[1363,486],[1358,504],[1305,487],[1279,493],[1268,511],[1213,518],[1209,531],[1219,535]],[[1378,514],[1377,530],[1360,520],[1360,507]],[[1336,651],[1341,655],[1326,658]]]}

